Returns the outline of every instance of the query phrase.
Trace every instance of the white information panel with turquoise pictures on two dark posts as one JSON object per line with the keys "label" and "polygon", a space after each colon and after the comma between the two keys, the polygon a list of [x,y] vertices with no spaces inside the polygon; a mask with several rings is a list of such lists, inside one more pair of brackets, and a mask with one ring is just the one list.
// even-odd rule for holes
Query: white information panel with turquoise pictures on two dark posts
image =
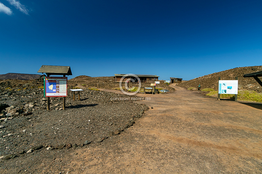
{"label": "white information panel with turquoise pictures on two dark posts", "polygon": [[219,80],[218,94],[237,94],[238,80]]}

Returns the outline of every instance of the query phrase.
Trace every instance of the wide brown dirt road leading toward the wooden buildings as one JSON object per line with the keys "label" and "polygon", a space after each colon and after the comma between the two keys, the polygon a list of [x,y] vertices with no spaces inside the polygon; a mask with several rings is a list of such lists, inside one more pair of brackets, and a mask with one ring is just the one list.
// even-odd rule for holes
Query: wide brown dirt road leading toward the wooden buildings
{"label": "wide brown dirt road leading toward the wooden buildings", "polygon": [[70,173],[262,173],[262,110],[174,88],[138,94],[153,109],[114,139],[71,154]]}

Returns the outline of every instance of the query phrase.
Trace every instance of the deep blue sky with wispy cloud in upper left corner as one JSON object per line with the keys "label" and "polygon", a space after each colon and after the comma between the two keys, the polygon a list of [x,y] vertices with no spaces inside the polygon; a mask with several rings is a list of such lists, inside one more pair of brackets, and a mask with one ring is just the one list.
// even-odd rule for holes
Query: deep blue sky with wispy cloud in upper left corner
{"label": "deep blue sky with wispy cloud in upper left corner", "polygon": [[0,74],[190,80],[262,65],[261,0],[0,0]]}

